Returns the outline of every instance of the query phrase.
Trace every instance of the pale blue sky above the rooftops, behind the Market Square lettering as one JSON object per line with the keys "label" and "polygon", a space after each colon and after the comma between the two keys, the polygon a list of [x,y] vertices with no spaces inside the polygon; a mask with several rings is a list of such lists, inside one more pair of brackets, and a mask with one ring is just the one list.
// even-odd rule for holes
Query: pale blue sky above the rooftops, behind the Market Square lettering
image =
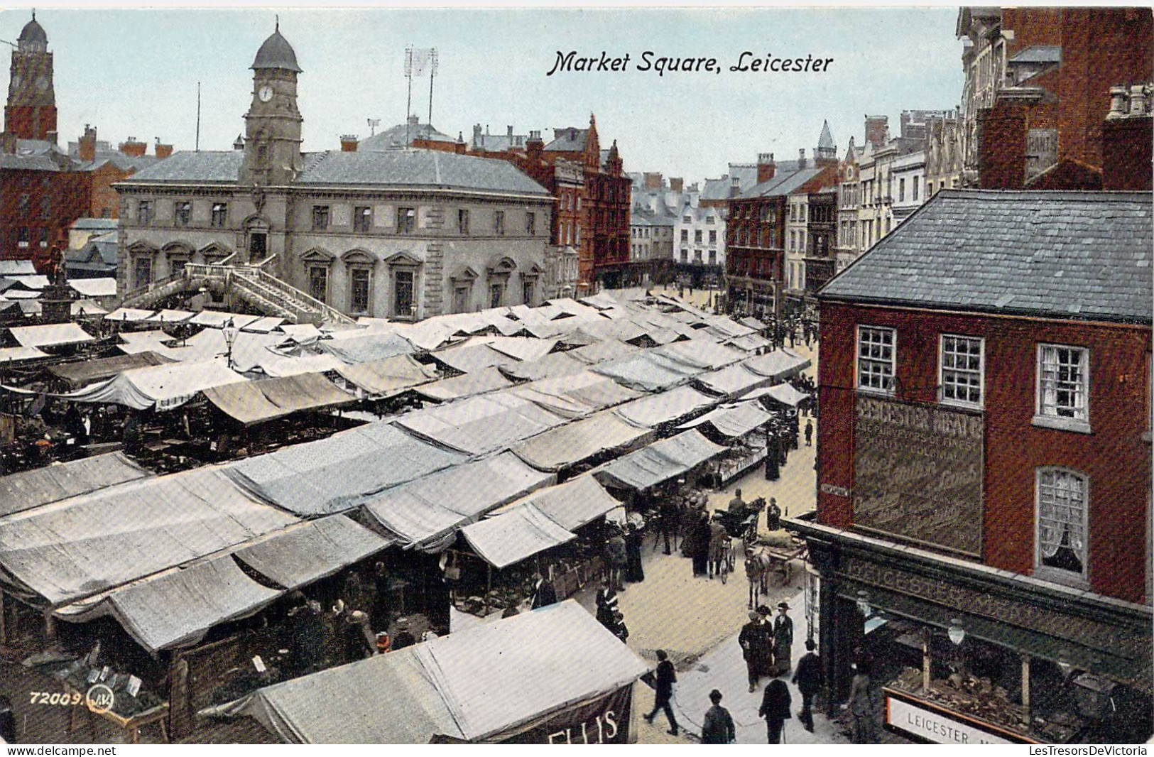
{"label": "pale blue sky above the rooftops, behind the Market Square lettering", "polygon": [[[601,144],[613,140],[627,171],[657,171],[687,183],[717,178],[728,163],[811,155],[827,119],[839,155],[860,144],[864,114],[956,107],[961,97],[957,8],[631,8],[473,10],[257,8],[100,10],[42,8],[54,53],[60,143],[85,123],[113,144],[160,137],[192,150],[201,82],[201,149],[227,150],[243,132],[249,66],[280,32],[304,73],[299,107],[305,150],[337,149],[342,134],[369,135],[405,117],[406,45],[437,47],[433,125],[467,140],[474,123],[503,134],[584,127],[597,114]],[[30,17],[0,13],[0,39],[14,43]],[[622,72],[559,72],[557,53],[630,55]],[[720,73],[666,72],[642,55],[715,58]],[[833,60],[823,72],[732,72],[757,59]],[[413,81],[412,111],[428,114],[426,77]],[[151,147],[149,149],[151,152]]]}

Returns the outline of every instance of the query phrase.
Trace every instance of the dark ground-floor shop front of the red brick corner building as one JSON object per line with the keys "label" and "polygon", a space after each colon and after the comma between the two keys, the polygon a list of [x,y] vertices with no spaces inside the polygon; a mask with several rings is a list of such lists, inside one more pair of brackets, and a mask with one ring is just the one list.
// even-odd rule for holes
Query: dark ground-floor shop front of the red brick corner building
{"label": "dark ground-floor shop front of the red brick corner building", "polygon": [[831,706],[864,659],[882,725],[912,741],[1136,743],[1154,730],[1149,607],[812,519],[786,524],[820,577]]}

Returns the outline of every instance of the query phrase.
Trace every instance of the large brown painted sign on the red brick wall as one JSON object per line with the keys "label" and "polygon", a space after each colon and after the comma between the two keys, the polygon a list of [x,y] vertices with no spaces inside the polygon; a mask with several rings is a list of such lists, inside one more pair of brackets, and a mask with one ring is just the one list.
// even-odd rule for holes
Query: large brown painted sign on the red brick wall
{"label": "large brown painted sign on the red brick wall", "polygon": [[857,397],[854,524],[982,553],[981,414]]}

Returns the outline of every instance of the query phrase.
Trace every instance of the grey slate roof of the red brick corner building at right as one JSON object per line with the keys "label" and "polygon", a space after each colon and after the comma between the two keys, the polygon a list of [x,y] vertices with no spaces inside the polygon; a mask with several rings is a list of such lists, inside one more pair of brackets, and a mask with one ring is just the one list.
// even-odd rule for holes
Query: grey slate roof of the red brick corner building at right
{"label": "grey slate roof of the red brick corner building at right", "polygon": [[822,300],[1151,323],[1149,193],[943,189]]}

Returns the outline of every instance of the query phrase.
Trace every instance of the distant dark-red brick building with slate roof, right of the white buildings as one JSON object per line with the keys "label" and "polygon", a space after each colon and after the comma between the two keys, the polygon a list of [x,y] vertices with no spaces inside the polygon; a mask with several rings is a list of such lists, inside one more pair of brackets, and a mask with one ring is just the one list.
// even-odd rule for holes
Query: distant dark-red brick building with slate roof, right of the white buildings
{"label": "distant dark-red brick building with slate roof, right of the white buildings", "polygon": [[[815,150],[804,158],[777,163],[757,156],[757,183],[729,200],[726,220],[726,291],[732,313],[765,317],[781,308],[785,279],[788,197],[838,185],[838,159]],[[835,223],[830,219],[831,228]]]}

